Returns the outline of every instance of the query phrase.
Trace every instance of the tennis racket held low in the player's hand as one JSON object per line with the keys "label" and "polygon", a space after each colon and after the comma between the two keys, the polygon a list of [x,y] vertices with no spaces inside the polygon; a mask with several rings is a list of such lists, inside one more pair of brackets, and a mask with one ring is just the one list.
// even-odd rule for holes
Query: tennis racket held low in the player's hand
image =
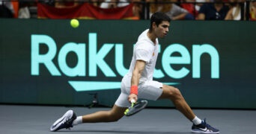
{"label": "tennis racket held low in the player's hand", "polygon": [[147,106],[147,100],[140,100],[137,102],[135,102],[135,100],[132,100],[131,103],[131,106],[129,106],[129,108],[124,112],[124,115],[126,116],[134,115],[135,113],[140,112]]}

